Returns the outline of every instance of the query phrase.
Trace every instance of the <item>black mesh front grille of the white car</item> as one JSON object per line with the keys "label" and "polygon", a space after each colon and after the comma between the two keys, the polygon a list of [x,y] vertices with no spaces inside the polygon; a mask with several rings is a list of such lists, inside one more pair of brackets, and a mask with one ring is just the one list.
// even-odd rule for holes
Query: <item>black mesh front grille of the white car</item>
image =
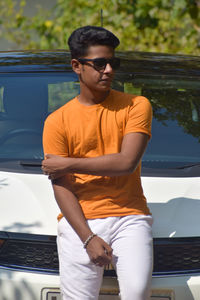
{"label": "black mesh front grille of the white car", "polygon": [[[58,274],[55,236],[0,232],[0,266]],[[200,273],[200,237],[154,239],[153,276]],[[104,276],[116,276],[111,266]]]}

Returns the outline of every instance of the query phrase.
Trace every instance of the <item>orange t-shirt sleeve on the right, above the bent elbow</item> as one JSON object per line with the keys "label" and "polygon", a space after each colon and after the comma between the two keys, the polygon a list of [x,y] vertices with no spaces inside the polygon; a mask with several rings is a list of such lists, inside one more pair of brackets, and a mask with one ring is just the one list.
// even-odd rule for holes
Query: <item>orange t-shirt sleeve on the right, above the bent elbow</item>
{"label": "orange t-shirt sleeve on the right, above the bent elbow", "polygon": [[132,99],[133,104],[128,112],[125,134],[141,132],[151,137],[152,107],[149,100],[142,96]]}

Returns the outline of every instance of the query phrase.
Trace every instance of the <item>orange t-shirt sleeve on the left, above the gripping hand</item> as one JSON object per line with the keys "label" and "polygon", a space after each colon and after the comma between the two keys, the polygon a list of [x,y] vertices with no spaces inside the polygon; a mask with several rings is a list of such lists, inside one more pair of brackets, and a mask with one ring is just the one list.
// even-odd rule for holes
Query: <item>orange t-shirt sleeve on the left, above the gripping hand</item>
{"label": "orange t-shirt sleeve on the left, above the gripping hand", "polygon": [[68,156],[68,143],[60,115],[52,114],[45,121],[43,151],[44,154]]}

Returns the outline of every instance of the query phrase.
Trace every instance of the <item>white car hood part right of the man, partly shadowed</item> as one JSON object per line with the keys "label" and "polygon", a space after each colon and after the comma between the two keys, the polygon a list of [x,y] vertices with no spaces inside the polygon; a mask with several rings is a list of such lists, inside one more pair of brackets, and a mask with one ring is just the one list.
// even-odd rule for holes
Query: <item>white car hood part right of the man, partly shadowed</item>
{"label": "white car hood part right of the man, partly shadowed", "polygon": [[200,235],[200,177],[142,177],[154,237]]}

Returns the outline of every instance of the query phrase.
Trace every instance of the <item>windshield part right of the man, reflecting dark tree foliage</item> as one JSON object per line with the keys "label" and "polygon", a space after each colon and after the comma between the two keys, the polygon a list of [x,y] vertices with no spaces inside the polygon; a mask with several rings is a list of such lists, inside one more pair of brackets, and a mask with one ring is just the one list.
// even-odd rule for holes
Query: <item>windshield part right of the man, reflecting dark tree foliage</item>
{"label": "windshield part right of the man, reflecting dark tree foliage", "polygon": [[172,168],[200,162],[197,78],[135,75],[124,82],[124,91],[146,96],[153,107],[152,138],[143,166]]}

